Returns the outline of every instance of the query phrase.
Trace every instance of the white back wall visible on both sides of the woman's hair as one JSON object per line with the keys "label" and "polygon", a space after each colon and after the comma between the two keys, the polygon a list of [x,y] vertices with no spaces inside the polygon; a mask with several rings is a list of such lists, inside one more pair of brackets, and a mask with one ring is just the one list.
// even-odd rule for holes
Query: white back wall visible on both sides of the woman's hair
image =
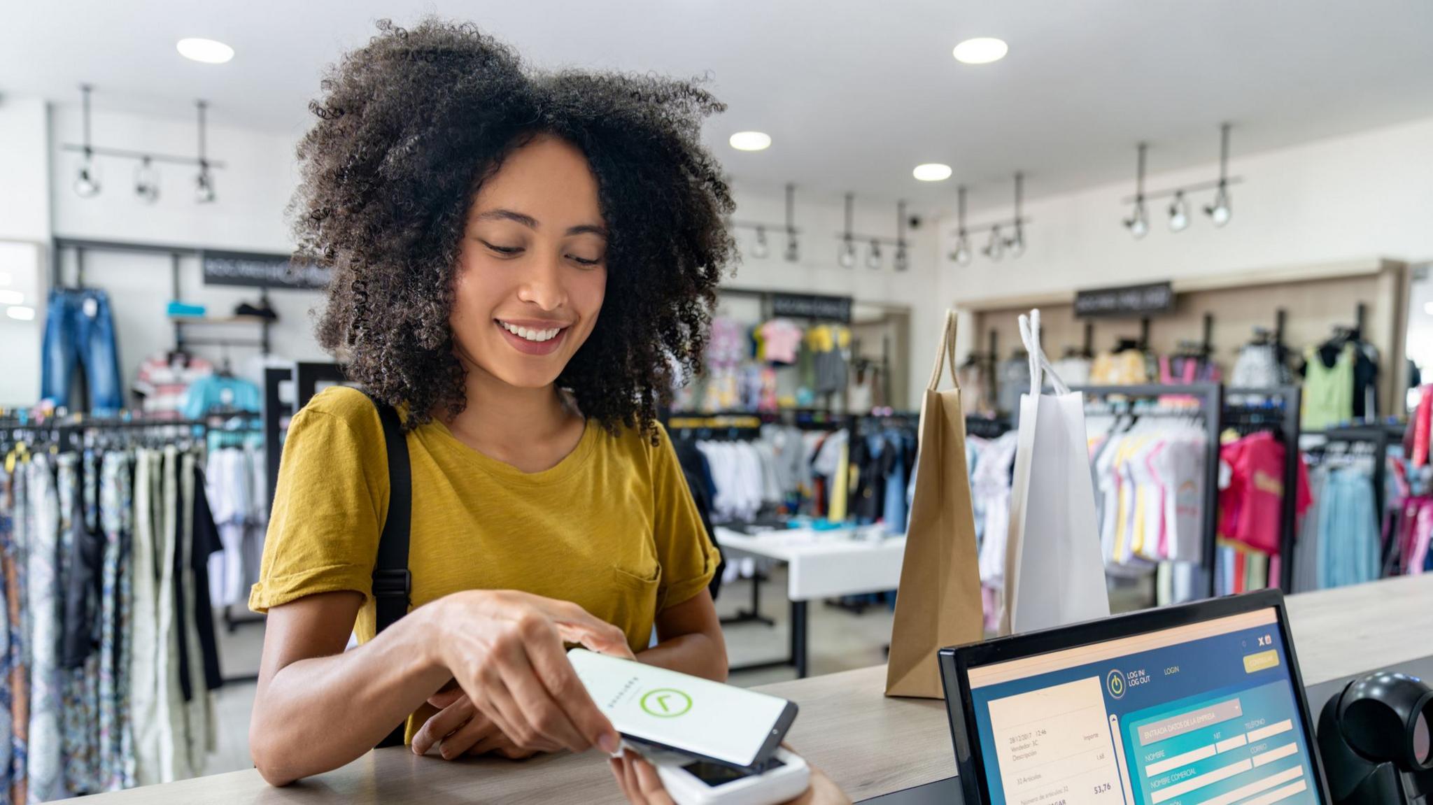
{"label": "white back wall visible on both sides of the woman's hair", "polygon": [[[43,110],[43,105],[40,106]],[[248,251],[285,251],[291,241],[284,218],[297,180],[292,159],[292,138],[262,132],[248,132],[232,127],[211,127],[209,153],[225,160],[228,166],[215,172],[218,201],[212,205],[198,205],[192,195],[193,169],[160,166],[160,198],[156,203],[140,202],[132,192],[133,162],[100,159],[103,192],[93,198],[80,198],[72,189],[79,155],[62,150],[63,143],[77,142],[80,136],[79,110],[54,107],[47,159],[52,162],[49,176],[43,176],[56,188],[53,202],[53,232],[64,238],[133,241],[209,248],[232,248]],[[192,153],[195,149],[195,123],[188,117],[156,119],[115,112],[96,112],[93,136],[97,142],[113,148],[156,150],[166,153]],[[44,142],[40,139],[39,142]],[[46,149],[27,146],[30,153]],[[43,193],[42,193],[43,198]],[[770,191],[738,192],[739,221],[784,221],[784,196],[780,188]],[[936,229],[927,223],[910,233],[911,268],[896,274],[891,268],[890,246],[884,246],[886,265],[880,271],[864,268],[840,268],[835,262],[837,235],[844,223],[840,198],[798,196],[797,225],[801,228],[801,259],[788,264],[782,258],[782,235],[771,233],[772,256],[755,259],[749,255],[751,231],[741,231],[742,262],[725,284],[739,288],[850,295],[861,302],[877,302],[911,308],[911,339],[914,342],[911,365],[910,400],[920,400],[924,384],[924,367],[934,355],[934,337],[939,334],[940,311],[930,302],[930,291],[937,286]],[[896,235],[894,201],[884,203],[860,203],[857,206],[856,229],[868,235]],[[49,238],[46,231],[39,239]],[[864,259],[864,245],[861,246]],[[66,252],[60,256],[66,282],[75,282],[75,256]],[[171,294],[171,268],[166,256],[133,254],[87,252],[85,259],[86,282],[106,288],[115,302],[116,325],[122,355],[122,371],[132,378],[138,364],[149,354],[169,348],[173,344],[173,328],[163,319],[163,305]],[[185,259],[181,265],[181,297],[189,302],[209,305],[209,315],[225,315],[241,299],[254,299],[255,294],[245,289],[214,288],[201,282],[198,264]],[[275,351],[294,360],[322,360],[324,354],[312,338],[311,311],[321,302],[315,292],[275,291],[274,307],[279,312],[279,324],[274,328]],[[43,315],[40,317],[43,319]],[[37,355],[37,332],[42,321],[29,327],[29,335],[36,339],[36,348],[27,354]],[[236,338],[251,338],[252,331],[225,331]],[[198,352],[219,358],[218,348],[198,348]],[[241,367],[252,350],[231,350],[229,357]],[[0,387],[0,404],[33,401],[37,395],[37,362],[23,368],[23,374],[34,377],[33,390],[7,390]],[[919,378],[919,380],[916,380]]]}

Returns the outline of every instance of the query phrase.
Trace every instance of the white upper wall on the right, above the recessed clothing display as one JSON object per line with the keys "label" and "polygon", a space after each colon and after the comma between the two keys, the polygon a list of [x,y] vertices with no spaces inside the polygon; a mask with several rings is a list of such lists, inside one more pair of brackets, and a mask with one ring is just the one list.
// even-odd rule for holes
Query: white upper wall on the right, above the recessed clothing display
{"label": "white upper wall on the right, above the recessed clothing display", "polygon": [[[956,242],[956,221],[947,216],[940,226],[941,295],[960,304],[1363,258],[1427,259],[1433,256],[1430,152],[1433,117],[1247,156],[1238,155],[1235,127],[1230,172],[1244,183],[1231,189],[1234,216],[1225,228],[1197,212],[1188,229],[1169,232],[1165,199],[1149,205],[1149,233],[1135,241],[1121,225],[1129,215],[1122,199],[1134,193],[1131,179],[1027,203],[1032,222],[1023,258],[995,264],[977,254],[972,265],[959,266],[947,256]],[[1134,168],[1134,143],[1129,162]],[[1151,143],[1149,165],[1158,170],[1159,143]],[[1155,172],[1146,186],[1217,176],[1211,162]],[[1026,188],[1037,195],[1039,176],[1029,176]],[[984,192],[972,189],[973,198]],[[1191,202],[1204,205],[1211,196],[1201,192]],[[983,209],[969,223],[1010,215],[1010,209]],[[976,246],[983,245],[977,239]]]}

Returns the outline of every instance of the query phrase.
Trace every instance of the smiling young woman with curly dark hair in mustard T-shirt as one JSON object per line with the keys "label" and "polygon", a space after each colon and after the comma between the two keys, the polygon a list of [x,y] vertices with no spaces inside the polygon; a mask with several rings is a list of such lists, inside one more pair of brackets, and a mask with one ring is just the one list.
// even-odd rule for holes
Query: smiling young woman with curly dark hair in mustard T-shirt
{"label": "smiling young woman with curly dark hair in mustard T-shirt", "polygon": [[721,105],[527,72],[470,26],[380,27],[311,105],[294,208],[332,269],[321,344],[403,418],[413,609],[374,635],[388,454],[373,401],[331,388],[289,427],[249,599],[268,613],[249,738],[275,785],[404,718],[447,759],[612,752],[563,643],[727,676],[718,556],[655,421],[732,258],[698,139]]}

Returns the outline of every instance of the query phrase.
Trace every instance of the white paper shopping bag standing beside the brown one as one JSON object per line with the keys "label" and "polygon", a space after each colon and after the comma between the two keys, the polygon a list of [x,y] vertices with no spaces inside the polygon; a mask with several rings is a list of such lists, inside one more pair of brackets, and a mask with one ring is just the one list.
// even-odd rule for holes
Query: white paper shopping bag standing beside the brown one
{"label": "white paper shopping bag standing beside the brown one", "polygon": [[[1040,311],[1020,317],[1020,338],[1030,355],[1030,392],[1020,397],[1002,635],[1109,614],[1085,395],[1070,392],[1040,350]],[[1055,394],[1040,394],[1042,375]]]}

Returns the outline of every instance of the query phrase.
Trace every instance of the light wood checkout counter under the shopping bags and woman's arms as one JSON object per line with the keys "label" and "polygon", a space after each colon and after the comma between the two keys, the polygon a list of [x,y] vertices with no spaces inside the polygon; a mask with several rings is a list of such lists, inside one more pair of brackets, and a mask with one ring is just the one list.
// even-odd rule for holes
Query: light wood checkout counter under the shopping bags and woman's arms
{"label": "light wood checkout counter under the shopping bags and woman's arms", "polygon": [[[1305,685],[1433,653],[1433,576],[1293,596],[1288,612]],[[877,666],[761,690],[801,705],[788,741],[858,801],[956,773],[944,703],[887,699],[881,695],[884,685],[886,669]],[[370,752],[338,771],[282,789],[245,771],[86,798],[99,805],[622,801],[596,752],[520,763],[486,758],[446,762],[417,758],[403,748]]]}

